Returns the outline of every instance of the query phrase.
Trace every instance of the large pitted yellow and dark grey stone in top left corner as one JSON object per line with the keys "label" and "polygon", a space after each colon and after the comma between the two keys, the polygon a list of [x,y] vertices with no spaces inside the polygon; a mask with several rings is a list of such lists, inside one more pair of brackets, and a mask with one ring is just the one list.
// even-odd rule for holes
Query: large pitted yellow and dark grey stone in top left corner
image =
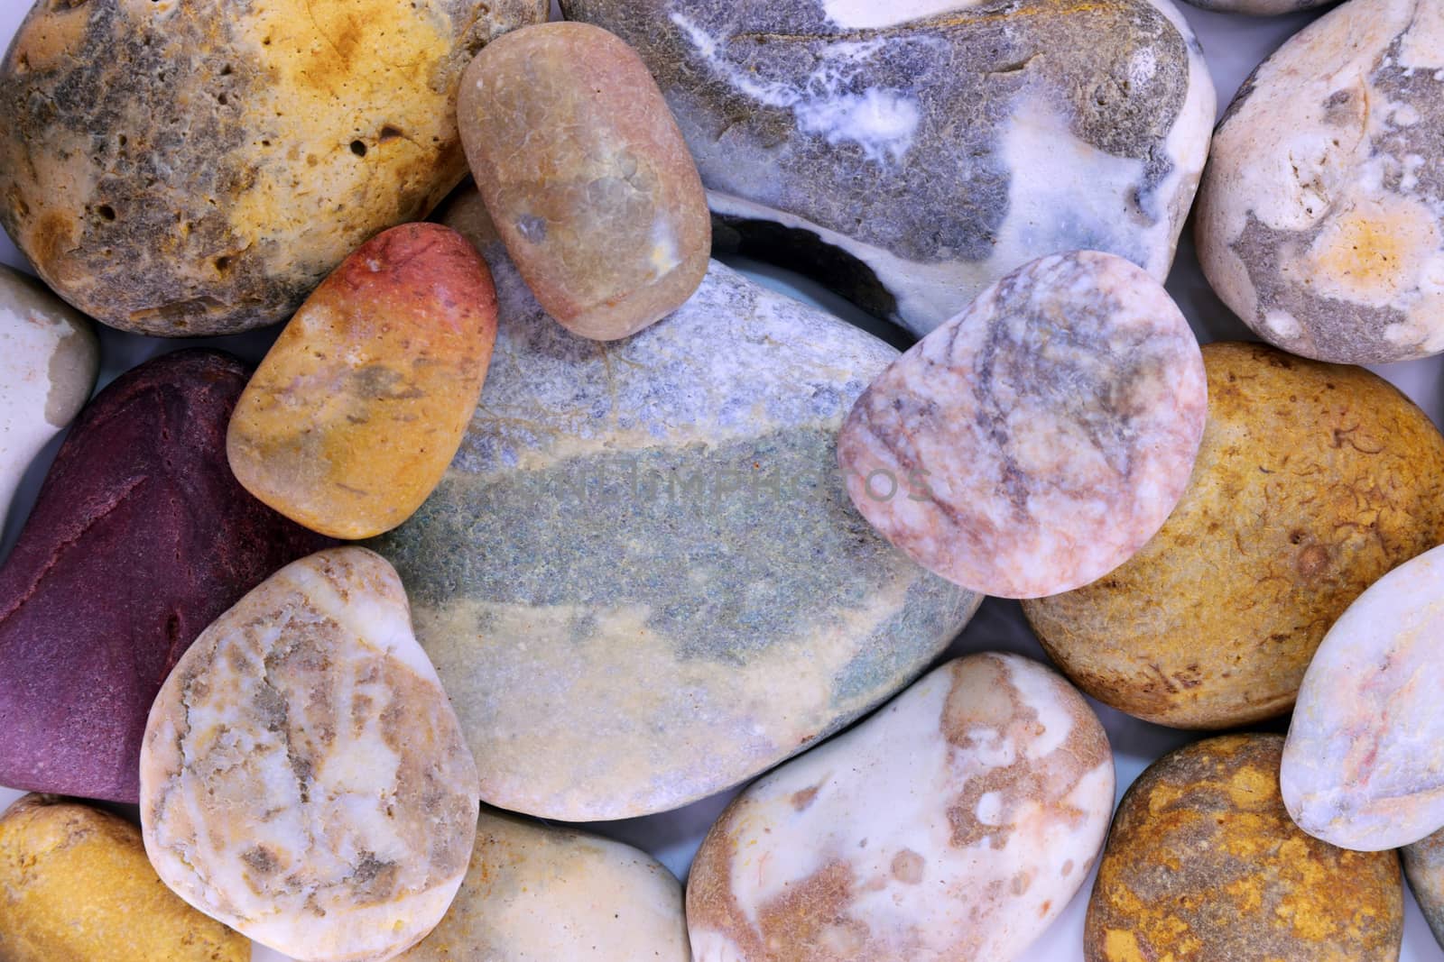
{"label": "large pitted yellow and dark grey stone in top left corner", "polygon": [[0,63],[0,225],[92,317],[284,320],[466,169],[462,69],[546,0],[39,0]]}

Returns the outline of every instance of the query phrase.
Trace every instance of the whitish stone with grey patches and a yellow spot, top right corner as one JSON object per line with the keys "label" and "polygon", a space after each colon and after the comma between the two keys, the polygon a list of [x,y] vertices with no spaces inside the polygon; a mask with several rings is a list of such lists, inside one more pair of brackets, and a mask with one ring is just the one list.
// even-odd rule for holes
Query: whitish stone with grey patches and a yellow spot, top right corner
{"label": "whitish stone with grey patches and a yellow spot, top right corner", "polygon": [[1199,258],[1292,353],[1444,350],[1444,9],[1346,3],[1243,85],[1213,141]]}

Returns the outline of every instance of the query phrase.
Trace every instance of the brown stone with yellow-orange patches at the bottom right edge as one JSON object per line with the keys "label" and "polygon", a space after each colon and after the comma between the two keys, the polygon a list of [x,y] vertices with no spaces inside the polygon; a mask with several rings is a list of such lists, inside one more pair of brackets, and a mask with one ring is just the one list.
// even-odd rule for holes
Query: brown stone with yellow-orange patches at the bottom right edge
{"label": "brown stone with yellow-orange patches at the bottom right edge", "polygon": [[1282,746],[1210,738],[1134,782],[1089,901],[1087,962],[1399,958],[1399,860],[1298,831],[1278,793]]}

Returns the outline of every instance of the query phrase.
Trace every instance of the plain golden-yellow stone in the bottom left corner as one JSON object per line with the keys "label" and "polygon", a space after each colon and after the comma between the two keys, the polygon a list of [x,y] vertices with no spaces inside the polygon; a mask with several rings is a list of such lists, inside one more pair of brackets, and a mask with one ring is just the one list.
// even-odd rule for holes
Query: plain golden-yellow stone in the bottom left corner
{"label": "plain golden-yellow stone in the bottom left corner", "polygon": [[250,942],[160,884],[130,822],[49,795],[26,795],[0,815],[0,959],[250,958]]}

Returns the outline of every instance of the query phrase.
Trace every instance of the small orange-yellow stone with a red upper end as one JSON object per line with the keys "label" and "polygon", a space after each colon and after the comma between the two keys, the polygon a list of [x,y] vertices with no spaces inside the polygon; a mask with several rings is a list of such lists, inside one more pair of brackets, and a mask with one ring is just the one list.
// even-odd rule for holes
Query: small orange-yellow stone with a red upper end
{"label": "small orange-yellow stone with a red upper end", "polygon": [[451,464],[497,339],[491,271],[455,231],[367,241],[286,325],[227,434],[235,477],[334,538],[401,524]]}

